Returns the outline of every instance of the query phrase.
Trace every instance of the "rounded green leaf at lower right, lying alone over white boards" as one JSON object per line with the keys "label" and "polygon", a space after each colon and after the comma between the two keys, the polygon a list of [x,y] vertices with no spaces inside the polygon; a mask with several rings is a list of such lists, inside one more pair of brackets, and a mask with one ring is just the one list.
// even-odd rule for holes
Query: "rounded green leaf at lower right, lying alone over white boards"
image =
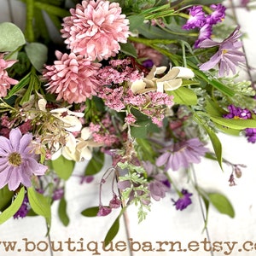
{"label": "rounded green leaf at lower right, lying alone over white boards", "polygon": [[231,218],[235,217],[234,208],[224,195],[218,193],[209,193],[208,196],[213,207],[215,207],[218,212],[229,215]]}

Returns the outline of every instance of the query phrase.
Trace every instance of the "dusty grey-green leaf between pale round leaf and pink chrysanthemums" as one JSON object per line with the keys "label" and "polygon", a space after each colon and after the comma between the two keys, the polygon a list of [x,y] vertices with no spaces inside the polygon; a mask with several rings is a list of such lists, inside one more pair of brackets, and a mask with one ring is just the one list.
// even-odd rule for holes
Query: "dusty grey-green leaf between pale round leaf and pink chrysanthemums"
{"label": "dusty grey-green leaf between pale round leaf and pink chrysanthemums", "polygon": [[41,72],[47,61],[47,47],[44,44],[31,43],[26,44],[25,50],[32,66],[35,67],[38,72]]}

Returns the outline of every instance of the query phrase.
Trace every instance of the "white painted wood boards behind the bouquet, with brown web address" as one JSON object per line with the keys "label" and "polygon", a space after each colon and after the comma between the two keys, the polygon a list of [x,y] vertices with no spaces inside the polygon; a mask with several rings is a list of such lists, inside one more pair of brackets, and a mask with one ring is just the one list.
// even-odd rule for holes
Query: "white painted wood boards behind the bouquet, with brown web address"
{"label": "white painted wood boards behind the bouquet, with brown web address", "polygon": [[[24,12],[23,4],[16,0],[0,0],[0,22],[10,21],[9,19],[9,5],[12,5],[15,23],[21,27],[24,26]],[[237,2],[237,1],[236,1]],[[239,1],[238,1],[239,2]],[[230,3],[228,1],[228,3]],[[247,53],[247,59],[251,67],[256,67],[256,36],[255,36],[255,15],[256,11],[247,11],[245,9],[237,9],[236,15],[241,25],[241,30],[247,33],[247,38],[244,39],[244,45]],[[1,35],[0,35],[1,36]],[[244,73],[247,77],[247,73]],[[252,77],[256,79],[255,69],[252,70]],[[128,241],[131,238],[133,241],[148,241],[152,246],[158,246],[156,241],[180,241],[183,248],[189,241],[200,243],[200,248],[196,252],[182,251],[182,252],[168,252],[167,246],[163,246],[166,252],[133,252],[129,250],[123,252],[102,252],[101,241],[103,241],[108,228],[113,223],[115,214],[105,218],[84,218],[80,212],[86,207],[96,206],[98,200],[98,187],[96,184],[99,182],[102,173],[97,175],[96,180],[90,184],[79,185],[79,178],[75,175],[67,182],[67,201],[68,201],[68,214],[71,222],[67,227],[63,227],[60,223],[57,213],[56,205],[53,207],[52,227],[50,230],[51,241],[61,241],[63,244],[62,252],[55,252],[55,256],[67,255],[107,255],[107,256],[166,256],[166,255],[185,255],[185,256],[207,256],[207,255],[232,255],[232,256],[253,256],[256,253],[256,247],[253,244],[253,250],[249,252],[239,251],[242,243],[245,241],[252,241],[256,243],[256,202],[255,202],[255,183],[256,183],[256,165],[255,154],[256,144],[249,144],[246,138],[242,137],[228,137],[219,134],[220,139],[224,142],[224,158],[235,163],[245,163],[247,168],[242,172],[242,177],[237,179],[237,186],[230,187],[228,179],[230,177],[230,167],[224,166],[222,172],[215,162],[210,160],[203,160],[200,165],[195,166],[195,173],[198,183],[207,191],[218,190],[230,198],[236,210],[236,218],[229,218],[220,215],[212,207],[209,212],[208,233],[212,242],[219,241],[223,243],[223,250],[221,252],[210,253],[204,247],[203,241],[207,238],[206,232],[202,232],[203,218],[201,213],[200,201],[193,191],[193,204],[183,212],[177,212],[172,206],[170,196],[166,197],[161,202],[155,202],[152,211],[148,214],[148,218],[142,224],[137,224],[136,209],[131,208],[128,210],[128,218],[126,224],[128,226],[129,234],[125,232],[125,225],[121,224],[118,236],[114,239],[115,242],[119,241],[119,249],[122,249],[120,241]],[[108,164],[106,164],[106,168]],[[82,172],[81,166],[78,166],[75,173]],[[185,182],[182,172],[171,173],[173,179],[181,179]],[[177,177],[178,175],[178,177]],[[108,196],[106,195],[108,200]],[[103,199],[104,200],[104,199]],[[122,219],[124,221],[124,219]],[[49,249],[46,249],[48,238],[45,236],[46,228],[44,218],[33,217],[24,219],[9,219],[6,223],[0,226],[0,255],[2,256],[50,256]],[[68,250],[68,238],[74,241],[75,244],[70,244],[72,249],[73,245],[79,250],[81,242],[84,242],[85,252]],[[6,252],[4,250],[3,241],[17,241],[15,252]],[[28,243],[25,250],[26,241]],[[79,243],[80,242],[80,243]],[[90,243],[89,243],[90,242]],[[98,252],[94,246],[98,242]],[[194,242],[194,245],[195,245]],[[235,247],[230,253],[227,243],[232,245],[231,242],[237,242]],[[89,243],[89,245],[88,245]],[[35,247],[38,245],[38,248]],[[136,246],[137,244],[134,244]],[[219,244],[218,244],[219,245]],[[58,244],[55,244],[58,246]],[[89,247],[87,247],[89,246]],[[208,246],[208,244],[207,244]],[[251,248],[252,245],[247,242],[246,248]],[[35,247],[35,250],[32,249]],[[137,247],[134,247],[135,249]],[[144,247],[147,249],[148,247]],[[177,247],[176,247],[177,248]],[[207,249],[208,247],[206,247]],[[46,249],[44,251],[44,249]],[[194,247],[196,249],[196,246]],[[224,254],[225,252],[225,254]]]}

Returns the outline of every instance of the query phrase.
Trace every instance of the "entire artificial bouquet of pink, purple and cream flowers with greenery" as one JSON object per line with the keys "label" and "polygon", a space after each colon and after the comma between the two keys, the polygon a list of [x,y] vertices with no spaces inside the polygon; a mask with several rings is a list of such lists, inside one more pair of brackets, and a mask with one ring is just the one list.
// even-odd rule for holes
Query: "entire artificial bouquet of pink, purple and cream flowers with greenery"
{"label": "entire artificial bouquet of pink, purple and cream flowers with greenery", "polygon": [[[120,212],[108,238],[131,204],[139,222],[166,196],[174,211],[189,207],[193,195],[172,172],[186,170],[193,184],[202,157],[228,163],[236,184],[242,164],[223,159],[218,132],[255,143],[255,90],[239,79],[242,33],[225,23],[222,1],[22,2],[25,31],[0,24],[1,224],[41,215],[50,228],[59,201],[67,225],[65,183],[80,161],[84,189],[102,172],[100,200],[81,213]],[[54,38],[43,11],[60,32]],[[225,195],[195,189],[206,209],[234,216]]]}

